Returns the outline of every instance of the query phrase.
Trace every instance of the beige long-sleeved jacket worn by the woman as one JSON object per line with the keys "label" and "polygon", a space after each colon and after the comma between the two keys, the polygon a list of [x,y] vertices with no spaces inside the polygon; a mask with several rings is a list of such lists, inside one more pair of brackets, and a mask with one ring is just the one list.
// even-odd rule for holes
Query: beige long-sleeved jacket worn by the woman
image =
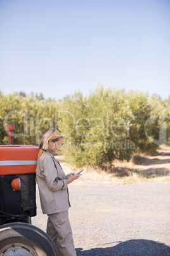
{"label": "beige long-sleeved jacket worn by the woman", "polygon": [[37,162],[37,183],[42,213],[51,214],[69,210],[69,190],[65,173],[49,152],[43,152]]}

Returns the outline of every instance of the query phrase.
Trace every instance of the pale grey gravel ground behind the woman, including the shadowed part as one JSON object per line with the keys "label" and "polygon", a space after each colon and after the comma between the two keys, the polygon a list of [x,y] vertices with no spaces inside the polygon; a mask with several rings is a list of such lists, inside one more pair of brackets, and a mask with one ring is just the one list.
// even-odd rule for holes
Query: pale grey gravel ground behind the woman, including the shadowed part
{"label": "pale grey gravel ground behind the woman, including the shadowed part", "polygon": [[[170,255],[170,183],[76,182],[69,218],[77,255]],[[46,220],[37,190],[32,224],[46,231]]]}

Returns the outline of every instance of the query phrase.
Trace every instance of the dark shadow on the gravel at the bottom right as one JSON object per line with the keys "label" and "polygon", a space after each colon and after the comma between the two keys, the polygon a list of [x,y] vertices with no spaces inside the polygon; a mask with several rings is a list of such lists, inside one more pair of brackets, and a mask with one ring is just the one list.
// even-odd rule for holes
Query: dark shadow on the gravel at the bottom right
{"label": "dark shadow on the gravel at the bottom right", "polygon": [[[113,242],[114,243],[114,242]],[[106,246],[107,244],[103,245]],[[105,255],[126,255],[126,256],[147,256],[157,255],[165,256],[170,255],[170,247],[163,243],[158,243],[152,240],[134,239],[125,242],[119,242],[118,245],[107,248],[93,248],[83,250],[82,248],[76,249],[77,256],[91,255],[91,256],[105,256]]]}

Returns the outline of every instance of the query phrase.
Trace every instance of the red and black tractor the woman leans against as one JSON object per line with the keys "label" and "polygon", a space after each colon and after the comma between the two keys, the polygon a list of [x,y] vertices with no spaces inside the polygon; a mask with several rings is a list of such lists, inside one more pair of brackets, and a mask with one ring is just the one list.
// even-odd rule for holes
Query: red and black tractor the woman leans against
{"label": "red and black tractor the woman leans against", "polygon": [[7,125],[6,131],[8,145],[0,145],[0,255],[56,256],[49,236],[31,225],[39,148],[13,145],[14,125]]}

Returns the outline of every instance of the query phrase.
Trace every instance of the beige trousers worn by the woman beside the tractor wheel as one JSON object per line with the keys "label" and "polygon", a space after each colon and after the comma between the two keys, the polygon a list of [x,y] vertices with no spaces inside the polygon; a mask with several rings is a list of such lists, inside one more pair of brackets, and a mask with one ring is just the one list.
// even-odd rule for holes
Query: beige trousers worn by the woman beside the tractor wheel
{"label": "beige trousers worn by the woman beside the tractor wheel", "polygon": [[48,214],[46,232],[55,244],[58,256],[76,256],[68,211]]}

